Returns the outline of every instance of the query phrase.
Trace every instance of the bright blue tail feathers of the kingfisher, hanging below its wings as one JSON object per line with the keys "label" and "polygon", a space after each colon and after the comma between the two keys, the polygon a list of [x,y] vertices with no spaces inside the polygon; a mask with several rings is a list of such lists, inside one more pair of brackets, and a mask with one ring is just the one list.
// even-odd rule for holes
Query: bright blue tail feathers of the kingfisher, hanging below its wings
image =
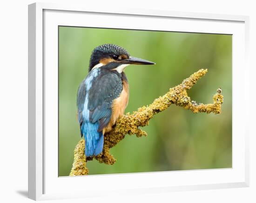
{"label": "bright blue tail feathers of the kingfisher, hanging below its wings", "polygon": [[99,123],[85,122],[81,125],[81,132],[85,139],[85,155],[87,157],[98,155],[103,150],[104,137],[98,132]]}

